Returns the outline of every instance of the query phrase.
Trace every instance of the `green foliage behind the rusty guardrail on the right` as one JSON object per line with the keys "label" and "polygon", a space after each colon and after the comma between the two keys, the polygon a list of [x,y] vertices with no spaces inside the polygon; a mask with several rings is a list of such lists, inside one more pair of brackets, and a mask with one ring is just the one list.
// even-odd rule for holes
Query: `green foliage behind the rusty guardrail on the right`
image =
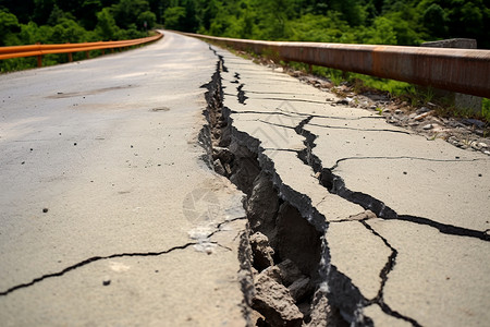
{"label": "green foliage behind the rusty guardrail on the right", "polygon": [[419,45],[476,38],[490,48],[489,0],[161,1],[166,27],[217,36]]}

